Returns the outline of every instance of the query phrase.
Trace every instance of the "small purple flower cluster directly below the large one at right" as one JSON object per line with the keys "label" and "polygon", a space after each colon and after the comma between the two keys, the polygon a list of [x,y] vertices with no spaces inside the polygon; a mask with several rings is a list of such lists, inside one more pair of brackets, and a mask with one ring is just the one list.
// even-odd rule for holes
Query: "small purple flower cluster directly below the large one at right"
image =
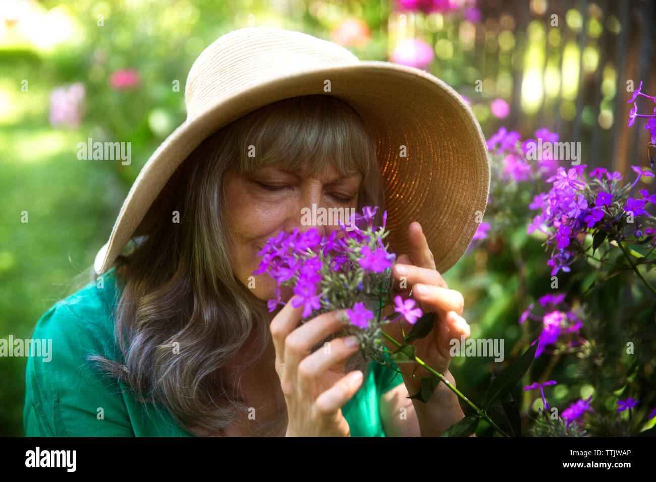
{"label": "small purple flower cluster directly below the large one at right", "polygon": [[565,304],[564,294],[545,294],[539,298],[538,303],[544,309],[542,317],[532,313],[535,304],[531,303],[529,307],[520,316],[519,323],[522,324],[526,319],[530,318],[542,323],[542,331],[539,338],[535,340],[538,342],[535,357],[539,357],[547,345],[554,344],[558,341],[567,339],[566,348],[573,348],[579,346],[585,340],[579,334],[579,330],[583,327],[583,322],[576,315],[575,311],[570,306]]}

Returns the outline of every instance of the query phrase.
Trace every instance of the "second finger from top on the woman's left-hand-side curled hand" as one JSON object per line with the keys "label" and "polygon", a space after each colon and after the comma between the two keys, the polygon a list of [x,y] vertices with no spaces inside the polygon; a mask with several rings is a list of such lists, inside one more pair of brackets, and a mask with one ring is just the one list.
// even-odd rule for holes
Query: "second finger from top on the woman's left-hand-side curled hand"
{"label": "second finger from top on the woman's left-hand-side curled hand", "polygon": [[344,327],[339,313],[344,310],[329,311],[318,317],[306,321],[285,338],[285,373],[291,380],[295,380],[298,374],[298,364],[310,354],[312,348],[329,334]]}

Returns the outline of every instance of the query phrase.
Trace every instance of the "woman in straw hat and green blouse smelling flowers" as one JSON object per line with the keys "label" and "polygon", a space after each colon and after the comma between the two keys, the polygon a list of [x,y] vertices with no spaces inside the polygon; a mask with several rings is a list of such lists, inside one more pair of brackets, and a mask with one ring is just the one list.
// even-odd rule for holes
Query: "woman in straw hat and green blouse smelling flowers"
{"label": "woman in straw hat and green blouse smelling flowers", "polygon": [[[403,87],[414,90],[391,95]],[[94,283],[37,324],[54,354],[28,361],[26,434],[430,436],[461,419],[443,384],[427,404],[408,399],[417,378],[335,338],[337,312],[299,323],[287,302],[268,313],[275,283],[252,273],[269,237],[310,228],[305,207],[377,205],[378,222],[388,209],[390,245],[407,252],[392,275],[438,314],[417,356],[455,384],[449,340],[469,327],[436,268],[471,241],[489,183],[466,104],[422,71],[270,28],[220,37],[185,96],[188,119],[140,172]],[[426,111],[430,100],[440,102]]]}

